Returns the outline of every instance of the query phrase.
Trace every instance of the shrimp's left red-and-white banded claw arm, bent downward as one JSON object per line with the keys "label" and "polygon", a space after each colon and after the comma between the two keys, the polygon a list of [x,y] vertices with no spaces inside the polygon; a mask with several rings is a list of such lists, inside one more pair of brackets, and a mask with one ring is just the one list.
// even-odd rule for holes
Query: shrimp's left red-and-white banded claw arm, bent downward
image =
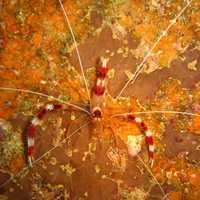
{"label": "shrimp's left red-and-white banded claw arm, bent downward", "polygon": [[64,105],[61,104],[47,104],[45,108],[43,108],[37,116],[35,116],[32,121],[30,122],[28,128],[27,128],[27,154],[28,154],[28,163],[29,166],[32,167],[33,163],[33,150],[35,145],[35,133],[36,128],[40,124],[41,120],[44,118],[44,116],[50,112],[55,111],[59,109],[63,109]]}

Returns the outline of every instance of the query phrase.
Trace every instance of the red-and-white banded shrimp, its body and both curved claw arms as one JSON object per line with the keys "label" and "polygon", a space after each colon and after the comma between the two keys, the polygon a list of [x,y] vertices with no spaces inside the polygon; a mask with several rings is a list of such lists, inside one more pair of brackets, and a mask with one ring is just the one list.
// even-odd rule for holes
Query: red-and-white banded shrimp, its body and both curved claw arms
{"label": "red-and-white banded shrimp, its body and both curved claw arms", "polygon": [[[106,94],[106,83],[107,83],[107,73],[108,73],[108,59],[101,58],[99,64],[96,67],[96,82],[92,89],[91,94],[91,104],[90,104],[90,117],[92,122],[101,123],[103,119],[103,108],[105,106],[105,94]],[[27,128],[27,146],[28,146],[28,163],[32,167],[33,163],[33,153],[35,145],[35,135],[37,126],[40,125],[41,120],[44,118],[46,113],[60,110],[66,108],[62,104],[47,104],[31,121],[30,125]],[[146,124],[142,121],[141,118],[135,117],[133,114],[127,114],[124,116],[125,120],[130,123],[136,124],[142,133],[145,134],[145,140],[148,145],[149,160],[151,167],[154,163],[154,142],[152,132],[148,129]],[[127,138],[127,148],[128,153],[131,156],[135,156],[134,146],[133,146],[133,134],[130,133]]]}

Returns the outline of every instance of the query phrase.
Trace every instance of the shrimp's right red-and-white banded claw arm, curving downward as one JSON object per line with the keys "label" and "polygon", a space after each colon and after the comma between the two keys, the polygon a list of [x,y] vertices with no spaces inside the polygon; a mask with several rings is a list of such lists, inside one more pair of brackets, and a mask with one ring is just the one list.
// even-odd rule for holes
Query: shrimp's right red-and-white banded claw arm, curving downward
{"label": "shrimp's right red-and-white banded claw arm, curving downward", "polygon": [[142,121],[141,118],[135,117],[133,114],[128,114],[127,115],[128,120],[136,123],[140,130],[145,134],[145,140],[148,145],[148,152],[149,152],[149,161],[151,167],[153,167],[154,164],[154,141],[153,141],[153,134],[152,132],[148,129],[146,124]]}

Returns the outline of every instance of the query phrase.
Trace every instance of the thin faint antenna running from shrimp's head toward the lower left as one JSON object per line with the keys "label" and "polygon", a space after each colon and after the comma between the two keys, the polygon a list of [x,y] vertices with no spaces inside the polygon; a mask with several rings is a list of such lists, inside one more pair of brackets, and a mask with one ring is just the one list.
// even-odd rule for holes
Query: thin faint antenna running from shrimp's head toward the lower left
{"label": "thin faint antenna running from shrimp's head toward the lower left", "polygon": [[[59,142],[56,146],[52,147],[51,149],[49,149],[47,152],[45,152],[44,154],[42,154],[39,158],[37,158],[35,161],[33,161],[32,165],[36,165],[36,163],[38,163],[40,160],[42,160],[46,155],[48,155],[48,153],[52,152],[53,150],[55,150],[57,147],[59,147],[61,144],[65,143],[67,140],[69,140],[72,136],[74,136],[76,133],[78,133],[78,131],[80,129],[82,129],[83,127],[87,126],[89,124],[89,122],[83,124],[82,126],[80,126],[78,129],[76,129],[75,131],[73,131],[68,137],[66,137],[64,140],[62,140],[61,142]],[[20,174],[22,174],[23,172],[25,172],[26,170],[30,170],[32,169],[32,167],[24,167],[22,170],[20,170],[16,175],[11,176],[7,181],[5,181],[3,184],[0,185],[0,188],[6,186],[8,183],[10,183],[10,181],[12,181],[14,178],[18,177]]]}

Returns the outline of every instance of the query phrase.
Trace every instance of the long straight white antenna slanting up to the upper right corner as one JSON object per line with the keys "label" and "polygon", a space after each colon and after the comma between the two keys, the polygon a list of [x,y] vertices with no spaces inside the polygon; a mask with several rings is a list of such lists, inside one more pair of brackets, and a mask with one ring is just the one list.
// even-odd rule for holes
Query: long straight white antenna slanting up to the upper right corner
{"label": "long straight white antenna slanting up to the upper right corner", "polygon": [[158,37],[157,41],[154,43],[154,45],[151,47],[151,49],[149,50],[149,52],[147,53],[147,55],[144,57],[143,61],[138,66],[138,68],[135,71],[135,73],[131,76],[131,78],[126,82],[126,84],[124,85],[124,87],[121,89],[121,91],[119,92],[119,94],[116,97],[117,99],[122,95],[122,93],[127,88],[127,86],[129,85],[129,83],[134,83],[136,81],[136,79],[139,76],[139,74],[144,70],[144,68],[145,68],[144,63],[147,61],[148,57],[151,55],[151,53],[154,50],[154,48],[157,46],[157,44],[160,42],[160,40],[168,33],[169,29],[177,22],[178,18],[183,14],[183,12],[192,3],[192,1],[193,0],[188,1],[187,4],[186,4],[186,6],[183,9],[181,9],[181,11],[179,12],[179,14],[173,20],[171,20],[171,23],[162,32],[162,34]]}

